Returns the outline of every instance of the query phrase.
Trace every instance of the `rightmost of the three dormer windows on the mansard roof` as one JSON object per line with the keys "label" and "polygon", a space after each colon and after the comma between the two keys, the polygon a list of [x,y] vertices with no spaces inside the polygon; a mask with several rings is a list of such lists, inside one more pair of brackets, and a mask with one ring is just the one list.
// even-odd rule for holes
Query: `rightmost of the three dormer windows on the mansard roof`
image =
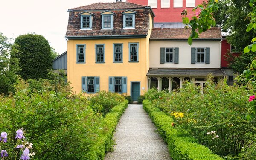
{"label": "rightmost of the three dormer windows on the mansard roof", "polygon": [[137,12],[127,10],[122,12],[123,14],[123,29],[134,29],[135,28],[135,14]]}

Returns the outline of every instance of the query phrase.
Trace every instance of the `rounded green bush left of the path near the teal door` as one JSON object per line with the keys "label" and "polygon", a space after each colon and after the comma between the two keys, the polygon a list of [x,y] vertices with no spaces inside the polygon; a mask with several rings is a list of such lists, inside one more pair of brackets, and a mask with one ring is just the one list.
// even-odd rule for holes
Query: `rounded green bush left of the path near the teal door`
{"label": "rounded green bush left of the path near the teal door", "polygon": [[92,102],[92,105],[102,105],[102,114],[105,116],[111,108],[124,101],[124,97],[118,93],[106,92],[105,90],[100,91],[94,95],[90,95],[88,99]]}

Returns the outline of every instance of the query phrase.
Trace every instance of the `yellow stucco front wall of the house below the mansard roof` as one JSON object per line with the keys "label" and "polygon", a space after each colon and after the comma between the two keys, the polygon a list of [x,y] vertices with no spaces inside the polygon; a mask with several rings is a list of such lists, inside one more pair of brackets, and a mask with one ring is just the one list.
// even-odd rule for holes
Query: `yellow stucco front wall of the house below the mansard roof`
{"label": "yellow stucco front wall of the house below the mansard roof", "polygon": [[[67,51],[67,79],[76,93],[81,92],[82,76],[99,76],[100,90],[108,91],[109,76],[127,77],[127,94],[131,94],[131,81],[140,82],[140,94],[147,89],[148,38],[69,40]],[[123,63],[113,63],[113,44],[123,44]],[[139,62],[129,62],[129,43],[139,43]],[[86,44],[85,62],[76,63],[76,44]],[[95,44],[105,44],[105,63],[95,63]]]}

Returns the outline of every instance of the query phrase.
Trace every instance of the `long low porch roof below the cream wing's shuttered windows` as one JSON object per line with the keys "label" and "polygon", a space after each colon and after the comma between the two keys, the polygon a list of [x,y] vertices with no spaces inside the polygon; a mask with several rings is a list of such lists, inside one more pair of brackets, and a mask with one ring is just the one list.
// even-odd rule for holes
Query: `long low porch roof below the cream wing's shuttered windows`
{"label": "long low porch roof below the cream wing's shuttered windows", "polygon": [[220,68],[150,68],[147,76],[225,76]]}

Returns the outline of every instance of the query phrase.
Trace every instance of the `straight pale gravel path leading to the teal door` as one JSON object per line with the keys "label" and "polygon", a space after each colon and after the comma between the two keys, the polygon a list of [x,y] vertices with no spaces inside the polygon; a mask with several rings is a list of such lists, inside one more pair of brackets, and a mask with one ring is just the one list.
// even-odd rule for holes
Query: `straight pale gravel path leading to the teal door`
{"label": "straight pale gravel path leading to the teal door", "polygon": [[166,143],[142,105],[128,105],[114,134],[116,145],[105,160],[171,160]]}

